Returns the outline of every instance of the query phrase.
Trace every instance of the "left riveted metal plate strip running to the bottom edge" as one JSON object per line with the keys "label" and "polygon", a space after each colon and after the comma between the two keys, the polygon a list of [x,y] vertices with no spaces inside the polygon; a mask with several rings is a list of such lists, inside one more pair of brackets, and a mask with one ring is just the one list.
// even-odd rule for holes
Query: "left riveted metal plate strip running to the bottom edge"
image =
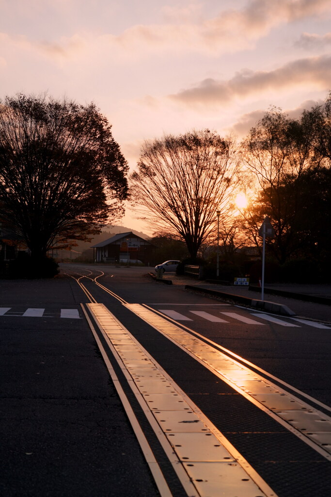
{"label": "left riveted metal plate strip running to the bottom edge", "polygon": [[103,304],[87,306],[188,496],[276,497],[115,316]]}

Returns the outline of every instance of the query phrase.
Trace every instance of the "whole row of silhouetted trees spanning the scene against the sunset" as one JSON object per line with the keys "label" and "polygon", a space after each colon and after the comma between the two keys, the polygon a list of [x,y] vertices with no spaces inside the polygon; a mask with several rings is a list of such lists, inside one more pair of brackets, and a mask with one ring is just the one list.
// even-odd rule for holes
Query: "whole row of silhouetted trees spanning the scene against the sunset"
{"label": "whole row of silhouetted trees spanning the scene against the sunset", "polygon": [[[184,242],[193,260],[215,246],[217,232],[225,255],[261,248],[268,216],[268,250],[279,264],[306,258],[330,266],[330,165],[331,95],[297,119],[271,108],[240,144],[209,130],[145,142],[131,195],[156,233]],[[127,172],[93,103],[0,101],[0,222],[15,226],[36,260],[120,217]],[[251,202],[235,215],[244,190]]]}

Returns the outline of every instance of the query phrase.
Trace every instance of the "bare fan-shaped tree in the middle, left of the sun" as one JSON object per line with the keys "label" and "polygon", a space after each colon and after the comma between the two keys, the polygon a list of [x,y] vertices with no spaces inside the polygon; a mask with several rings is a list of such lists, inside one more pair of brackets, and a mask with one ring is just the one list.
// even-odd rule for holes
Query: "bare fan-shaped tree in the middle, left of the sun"
{"label": "bare fan-shaped tree in the middle, left of the sun", "polygon": [[238,182],[234,142],[209,130],[145,142],[132,197],[153,226],[177,234],[193,259],[212,232],[216,211],[226,216]]}

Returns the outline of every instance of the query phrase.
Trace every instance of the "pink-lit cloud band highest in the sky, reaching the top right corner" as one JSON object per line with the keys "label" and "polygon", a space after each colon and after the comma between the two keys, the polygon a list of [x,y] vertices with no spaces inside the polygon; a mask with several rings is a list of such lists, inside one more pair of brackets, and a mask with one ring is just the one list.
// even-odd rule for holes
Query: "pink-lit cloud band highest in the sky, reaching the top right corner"
{"label": "pink-lit cloud band highest in the sky, reaching the top right corner", "polygon": [[[118,36],[107,35],[111,45],[137,49],[143,45],[147,52],[160,49],[194,50],[219,54],[248,48],[254,40],[282,24],[318,16],[331,10],[330,0],[252,0],[242,9],[220,12],[212,19],[192,23],[135,25]],[[253,45],[252,45],[253,46]]]}

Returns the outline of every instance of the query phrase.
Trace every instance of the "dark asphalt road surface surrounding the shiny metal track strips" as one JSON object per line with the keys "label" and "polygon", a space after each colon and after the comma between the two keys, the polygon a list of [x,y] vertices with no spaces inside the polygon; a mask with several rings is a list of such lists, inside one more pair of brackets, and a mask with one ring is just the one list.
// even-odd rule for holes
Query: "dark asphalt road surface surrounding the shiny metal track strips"
{"label": "dark asphalt road surface surrounding the shiny metal track strips", "polygon": [[[55,280],[1,281],[0,495],[159,495],[151,465],[147,465],[129,422],[128,407],[123,407],[102,358],[102,348],[171,495],[190,495],[115,364],[107,337],[96,326],[86,305],[91,296],[130,331],[273,495],[327,495],[330,435],[321,438],[318,433],[323,430],[312,431],[307,442],[304,427],[300,431],[295,422],[288,425],[281,405],[265,408],[259,393],[253,393],[252,401],[241,389],[241,379],[228,381],[226,372],[225,376],[224,371],[216,374],[212,363],[206,367],[201,362],[199,351],[186,348],[191,342],[189,333],[199,340],[199,347],[202,343],[230,359],[236,354],[243,368],[284,389],[291,399],[307,405],[313,416],[329,419],[331,327],[320,324],[318,315],[304,323],[257,313],[186,292],[181,286],[151,281],[145,268],[66,264],[62,271]],[[80,304],[94,324],[101,349]],[[137,311],[132,304],[140,305]],[[160,332],[149,318],[141,319],[141,309],[161,317],[161,326],[177,323],[179,341],[169,339],[167,325]],[[317,446],[311,443],[319,437]],[[208,495],[196,486],[196,495]]]}

